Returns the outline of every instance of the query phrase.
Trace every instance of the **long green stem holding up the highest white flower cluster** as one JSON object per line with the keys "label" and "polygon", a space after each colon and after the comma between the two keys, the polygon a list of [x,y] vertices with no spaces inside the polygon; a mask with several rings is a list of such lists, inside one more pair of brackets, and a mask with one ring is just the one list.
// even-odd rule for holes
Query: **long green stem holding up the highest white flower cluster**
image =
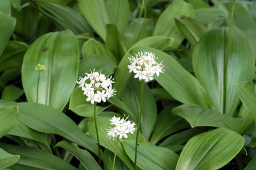
{"label": "long green stem holding up the highest white flower cluster", "polygon": [[138,129],[137,129],[136,141],[135,141],[134,169],[136,169],[136,164],[137,164],[138,139],[139,139],[139,132],[140,132],[140,121],[141,121],[141,115],[142,115],[142,106],[143,106],[143,91],[144,91],[144,80],[141,81],[140,113],[139,113]]}

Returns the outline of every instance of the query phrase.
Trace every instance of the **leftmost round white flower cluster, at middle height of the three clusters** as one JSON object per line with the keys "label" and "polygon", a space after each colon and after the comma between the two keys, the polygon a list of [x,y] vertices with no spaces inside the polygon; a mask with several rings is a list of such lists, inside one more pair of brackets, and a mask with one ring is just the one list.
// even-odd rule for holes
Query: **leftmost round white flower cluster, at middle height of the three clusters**
{"label": "leftmost round white flower cluster, at middle height of the three clusters", "polygon": [[[106,77],[101,71],[96,72],[95,69],[91,73],[85,73],[85,77],[79,77],[79,87],[84,91],[84,95],[87,96],[86,101],[91,101],[93,105],[94,102],[100,103],[101,101],[106,102],[106,98],[109,99],[116,92],[112,89],[112,83],[114,79],[112,77]],[[89,83],[86,82],[89,81]]]}

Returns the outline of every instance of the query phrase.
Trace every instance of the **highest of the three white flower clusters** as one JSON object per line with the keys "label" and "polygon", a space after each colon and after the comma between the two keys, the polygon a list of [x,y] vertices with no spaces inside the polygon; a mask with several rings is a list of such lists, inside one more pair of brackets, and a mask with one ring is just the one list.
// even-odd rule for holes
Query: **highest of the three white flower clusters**
{"label": "highest of the three white flower clusters", "polygon": [[163,73],[163,65],[156,62],[157,57],[155,54],[150,52],[139,52],[135,54],[135,57],[129,58],[131,64],[128,65],[130,73],[133,71],[135,73],[134,78],[139,78],[139,80],[145,80],[148,82],[153,80],[153,75],[156,74],[157,77],[159,73]]}

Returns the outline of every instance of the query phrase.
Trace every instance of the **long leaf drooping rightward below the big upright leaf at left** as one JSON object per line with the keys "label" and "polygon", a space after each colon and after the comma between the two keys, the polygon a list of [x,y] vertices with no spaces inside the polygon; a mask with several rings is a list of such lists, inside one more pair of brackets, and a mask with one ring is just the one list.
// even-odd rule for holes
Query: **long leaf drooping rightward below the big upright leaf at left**
{"label": "long leaf drooping rightward below the big upright leaf at left", "polygon": [[19,121],[29,128],[44,133],[61,135],[97,155],[95,141],[87,137],[78,126],[65,114],[50,106],[34,103],[18,103]]}

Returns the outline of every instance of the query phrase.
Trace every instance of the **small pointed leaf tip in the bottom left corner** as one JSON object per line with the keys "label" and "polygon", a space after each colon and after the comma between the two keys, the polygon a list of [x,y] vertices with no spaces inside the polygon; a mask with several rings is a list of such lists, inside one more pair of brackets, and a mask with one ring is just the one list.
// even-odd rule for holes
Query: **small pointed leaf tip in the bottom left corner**
{"label": "small pointed leaf tip in the bottom left corner", "polygon": [[0,148],[0,169],[7,168],[20,159],[19,155],[12,155]]}

